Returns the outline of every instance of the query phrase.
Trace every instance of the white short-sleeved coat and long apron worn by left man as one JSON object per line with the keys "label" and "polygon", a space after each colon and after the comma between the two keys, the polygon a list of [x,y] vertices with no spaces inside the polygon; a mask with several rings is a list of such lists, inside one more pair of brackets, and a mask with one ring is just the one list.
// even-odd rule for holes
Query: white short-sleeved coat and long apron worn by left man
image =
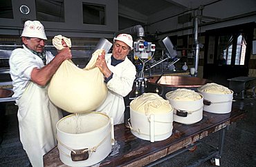
{"label": "white short-sleeved coat and long apron worn by left man", "polygon": [[[53,55],[46,52],[47,63]],[[16,104],[19,106],[19,135],[33,166],[44,166],[43,155],[57,145],[56,124],[62,112],[48,98],[47,86],[30,81],[33,68],[42,68],[42,59],[28,49],[17,49],[10,57],[10,75]]]}

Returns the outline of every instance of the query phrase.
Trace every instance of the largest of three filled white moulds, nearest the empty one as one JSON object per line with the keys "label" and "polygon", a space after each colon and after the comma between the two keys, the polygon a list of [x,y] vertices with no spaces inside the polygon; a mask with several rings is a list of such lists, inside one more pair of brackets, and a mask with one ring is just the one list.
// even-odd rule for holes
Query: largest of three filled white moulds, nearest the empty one
{"label": "largest of three filled white moulds, nearest the empty one", "polygon": [[130,107],[131,133],[151,142],[167,139],[172,135],[173,110],[167,113],[145,115]]}

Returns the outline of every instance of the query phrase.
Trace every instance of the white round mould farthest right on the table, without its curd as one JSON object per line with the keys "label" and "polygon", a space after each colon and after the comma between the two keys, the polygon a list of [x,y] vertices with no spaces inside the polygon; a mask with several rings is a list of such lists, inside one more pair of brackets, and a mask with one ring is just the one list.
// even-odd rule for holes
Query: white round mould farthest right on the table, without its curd
{"label": "white round mould farthest right on the table, without its curd", "polygon": [[232,110],[233,91],[230,94],[214,94],[209,92],[202,92],[203,95],[203,110],[215,114],[226,114]]}

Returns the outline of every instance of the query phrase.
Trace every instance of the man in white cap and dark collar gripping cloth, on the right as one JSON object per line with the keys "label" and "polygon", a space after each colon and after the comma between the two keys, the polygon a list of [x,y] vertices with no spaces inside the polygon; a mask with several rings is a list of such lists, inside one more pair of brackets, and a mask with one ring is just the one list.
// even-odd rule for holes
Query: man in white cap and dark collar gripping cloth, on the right
{"label": "man in white cap and dark collar gripping cloth, on the right", "polygon": [[113,39],[111,54],[98,57],[96,66],[100,68],[107,83],[108,95],[97,111],[105,112],[113,118],[114,124],[121,124],[125,119],[124,98],[131,92],[136,77],[136,68],[127,58],[133,49],[131,35],[120,34]]}

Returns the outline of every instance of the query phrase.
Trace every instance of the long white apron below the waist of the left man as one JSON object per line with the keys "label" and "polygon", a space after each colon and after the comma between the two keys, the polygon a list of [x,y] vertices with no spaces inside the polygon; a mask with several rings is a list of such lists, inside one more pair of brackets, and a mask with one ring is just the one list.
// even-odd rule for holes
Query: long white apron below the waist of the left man
{"label": "long white apron below the waist of the left man", "polygon": [[19,135],[24,150],[35,166],[44,166],[43,155],[57,145],[56,124],[62,112],[48,98],[47,87],[30,82],[17,101]]}

